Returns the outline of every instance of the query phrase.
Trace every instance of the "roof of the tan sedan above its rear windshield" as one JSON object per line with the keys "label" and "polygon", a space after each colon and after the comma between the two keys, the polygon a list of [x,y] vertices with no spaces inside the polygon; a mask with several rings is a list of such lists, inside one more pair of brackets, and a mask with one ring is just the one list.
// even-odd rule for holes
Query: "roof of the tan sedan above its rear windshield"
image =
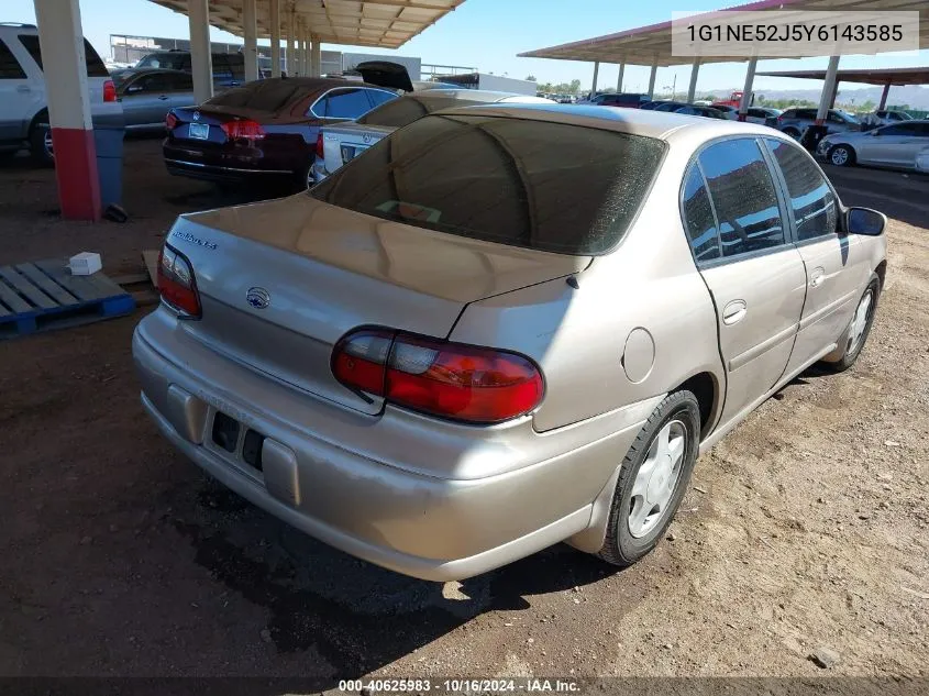
{"label": "roof of the tan sedan above its rear windshield", "polygon": [[[740,134],[782,136],[781,133],[765,125],[749,122],[707,119],[668,111],[643,111],[641,109],[588,107],[585,104],[496,103],[478,107],[455,107],[443,109],[436,113],[490,115],[586,125],[668,142],[692,137],[705,141],[722,135]],[[789,140],[789,137],[785,135],[781,140]]]}

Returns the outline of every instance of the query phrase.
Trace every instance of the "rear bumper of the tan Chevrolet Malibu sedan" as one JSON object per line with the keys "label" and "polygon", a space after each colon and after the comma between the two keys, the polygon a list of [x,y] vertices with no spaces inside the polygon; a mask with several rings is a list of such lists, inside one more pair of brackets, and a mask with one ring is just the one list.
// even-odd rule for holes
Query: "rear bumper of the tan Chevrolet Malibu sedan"
{"label": "rear bumper of the tan Chevrolet Malibu sedan", "polygon": [[[167,329],[166,311],[143,320],[133,336],[142,401],[165,437],[287,523],[414,577],[471,577],[588,530],[595,501],[641,428],[641,420],[629,421],[582,446],[576,444],[578,426],[561,435],[537,434],[537,461],[484,478],[406,471],[371,454],[379,440],[396,438],[385,424],[387,415],[330,406],[207,349],[202,355],[178,354],[183,329]],[[633,410],[629,416],[638,419],[645,409]],[[265,435],[262,472],[244,462],[241,445],[230,454],[212,442],[218,411]],[[418,434],[409,422],[398,430],[409,451],[433,446],[428,440],[436,437],[425,429]],[[461,456],[478,446],[464,448]],[[510,449],[510,457],[526,456],[524,448]]]}

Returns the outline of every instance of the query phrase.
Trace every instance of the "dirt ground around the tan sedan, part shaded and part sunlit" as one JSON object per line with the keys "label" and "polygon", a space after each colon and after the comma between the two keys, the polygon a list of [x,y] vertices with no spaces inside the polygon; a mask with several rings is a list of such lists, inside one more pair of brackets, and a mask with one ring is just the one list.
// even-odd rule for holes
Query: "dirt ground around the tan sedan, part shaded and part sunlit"
{"label": "dirt ground around the tan sedan, part shaded and part sunlit", "polygon": [[[0,676],[929,676],[929,179],[830,169],[893,218],[858,365],[809,373],[697,464],[624,572],[558,545],[462,584],[318,543],[206,480],[139,404],[130,318],[0,342]],[[0,264],[141,270],[175,216],[246,199],[128,143],[128,224],[63,222],[0,167]],[[808,655],[828,647],[831,671]]]}

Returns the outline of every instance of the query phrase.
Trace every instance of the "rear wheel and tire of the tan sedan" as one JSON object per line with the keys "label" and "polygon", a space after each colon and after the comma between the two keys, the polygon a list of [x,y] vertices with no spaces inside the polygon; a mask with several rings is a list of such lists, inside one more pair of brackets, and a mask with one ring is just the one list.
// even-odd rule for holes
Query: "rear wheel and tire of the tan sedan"
{"label": "rear wheel and tire of the tan sedan", "polygon": [[[670,442],[684,438],[679,460],[672,453],[663,468],[660,437],[668,431]],[[632,565],[654,549],[674,519],[697,462],[700,441],[700,407],[690,391],[675,391],[657,405],[626,454],[610,507],[604,545],[597,555],[612,565]],[[651,474],[643,471],[646,462]],[[639,480],[642,472],[643,479]],[[657,478],[656,478],[657,476]],[[648,480],[648,483],[645,483]],[[637,486],[638,482],[638,486]],[[667,486],[663,485],[667,482]],[[644,490],[642,485],[644,485]],[[652,488],[657,491],[653,494]],[[633,495],[634,494],[634,495]],[[661,499],[662,504],[652,502]],[[666,499],[665,499],[666,496]],[[661,509],[655,511],[659,507]]]}

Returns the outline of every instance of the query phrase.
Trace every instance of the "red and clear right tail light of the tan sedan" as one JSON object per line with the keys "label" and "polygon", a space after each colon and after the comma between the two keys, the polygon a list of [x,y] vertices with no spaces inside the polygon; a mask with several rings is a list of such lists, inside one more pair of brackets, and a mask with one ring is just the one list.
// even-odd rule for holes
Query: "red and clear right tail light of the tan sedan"
{"label": "red and clear right tail light of the tan sedan", "polygon": [[539,367],[528,357],[388,329],[360,329],[332,354],[346,387],[447,420],[498,423],[542,400]]}

